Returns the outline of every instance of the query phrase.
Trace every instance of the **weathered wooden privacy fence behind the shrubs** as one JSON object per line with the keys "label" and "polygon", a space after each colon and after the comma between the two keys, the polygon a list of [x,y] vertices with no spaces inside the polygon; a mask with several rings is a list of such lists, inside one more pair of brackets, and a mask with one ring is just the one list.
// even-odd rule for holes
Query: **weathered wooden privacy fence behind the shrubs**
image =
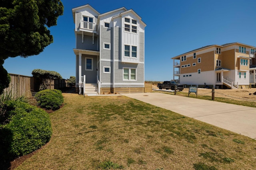
{"label": "weathered wooden privacy fence behind the shrubs", "polygon": [[[34,77],[23,76],[18,74],[9,74],[11,81],[9,87],[4,89],[4,91],[12,92],[14,97],[32,96],[33,92],[39,91],[40,82]],[[51,80],[49,80],[51,81]],[[66,80],[52,80],[48,89],[60,89],[66,87]]]}

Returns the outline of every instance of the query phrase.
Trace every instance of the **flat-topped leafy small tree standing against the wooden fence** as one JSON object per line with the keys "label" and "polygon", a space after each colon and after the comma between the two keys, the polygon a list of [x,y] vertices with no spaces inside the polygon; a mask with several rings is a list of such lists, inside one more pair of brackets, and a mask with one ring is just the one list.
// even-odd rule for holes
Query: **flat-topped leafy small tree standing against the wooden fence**
{"label": "flat-topped leafy small tree standing against the wooden fence", "polygon": [[33,77],[36,77],[40,81],[39,90],[45,90],[50,86],[51,81],[55,79],[62,79],[62,76],[56,71],[48,71],[41,69],[34,69],[32,71]]}

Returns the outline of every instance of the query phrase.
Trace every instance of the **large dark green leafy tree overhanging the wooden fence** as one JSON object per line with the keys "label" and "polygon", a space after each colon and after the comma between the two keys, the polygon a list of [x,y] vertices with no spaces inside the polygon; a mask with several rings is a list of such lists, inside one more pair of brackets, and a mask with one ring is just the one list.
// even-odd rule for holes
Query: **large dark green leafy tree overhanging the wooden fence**
{"label": "large dark green leafy tree overhanging the wooden fence", "polygon": [[0,65],[8,57],[41,53],[53,42],[48,27],[57,25],[63,10],[60,0],[0,0]]}

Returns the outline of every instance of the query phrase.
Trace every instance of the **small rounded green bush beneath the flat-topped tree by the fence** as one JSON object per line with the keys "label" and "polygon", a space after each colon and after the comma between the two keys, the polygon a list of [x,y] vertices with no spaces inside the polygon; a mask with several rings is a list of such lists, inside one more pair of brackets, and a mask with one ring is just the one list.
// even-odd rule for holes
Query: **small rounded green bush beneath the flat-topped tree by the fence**
{"label": "small rounded green bush beneath the flat-topped tree by the fence", "polygon": [[64,102],[62,92],[55,89],[42,90],[36,93],[35,97],[39,106],[46,109],[56,110]]}

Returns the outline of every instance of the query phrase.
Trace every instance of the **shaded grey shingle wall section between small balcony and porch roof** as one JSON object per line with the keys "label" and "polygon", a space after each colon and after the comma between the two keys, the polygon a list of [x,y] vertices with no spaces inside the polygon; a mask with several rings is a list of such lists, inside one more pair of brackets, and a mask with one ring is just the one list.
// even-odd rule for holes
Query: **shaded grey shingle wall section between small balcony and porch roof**
{"label": "shaded grey shingle wall section between small balcony and porch roof", "polygon": [[76,34],[76,49],[82,50],[98,50],[98,37],[94,36],[94,44],[92,43],[92,36],[84,35],[84,42],[82,43],[82,34]]}

